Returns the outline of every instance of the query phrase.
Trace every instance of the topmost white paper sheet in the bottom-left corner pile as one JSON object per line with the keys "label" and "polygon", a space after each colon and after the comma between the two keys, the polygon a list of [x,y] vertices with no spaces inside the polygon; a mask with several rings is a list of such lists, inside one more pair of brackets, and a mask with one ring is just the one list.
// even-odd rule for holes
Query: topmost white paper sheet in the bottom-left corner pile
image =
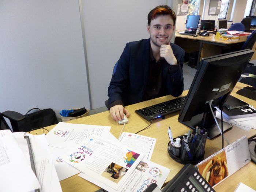
{"label": "topmost white paper sheet in the bottom-left corner pile", "polygon": [[10,130],[0,131],[0,189],[27,192],[40,185]]}

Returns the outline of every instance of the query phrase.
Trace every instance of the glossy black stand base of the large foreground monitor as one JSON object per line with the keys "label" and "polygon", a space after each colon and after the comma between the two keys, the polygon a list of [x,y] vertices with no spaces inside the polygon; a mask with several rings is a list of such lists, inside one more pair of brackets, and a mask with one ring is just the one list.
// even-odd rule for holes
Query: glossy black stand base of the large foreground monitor
{"label": "glossy black stand base of the large foreground monitor", "polygon": [[[196,129],[196,126],[203,127],[205,129],[207,129],[208,130],[208,135],[207,135],[208,139],[212,139],[218,135],[221,135],[217,124],[212,123],[212,125],[203,125],[206,123],[205,115],[206,115],[205,113],[197,114],[196,116],[193,116],[190,121],[183,121],[182,123],[192,129]],[[212,114],[208,114],[208,115],[212,116]],[[218,121],[219,126],[221,127],[221,120],[217,118],[217,121]],[[231,129],[232,127],[233,127],[232,125],[223,121],[223,132]]]}

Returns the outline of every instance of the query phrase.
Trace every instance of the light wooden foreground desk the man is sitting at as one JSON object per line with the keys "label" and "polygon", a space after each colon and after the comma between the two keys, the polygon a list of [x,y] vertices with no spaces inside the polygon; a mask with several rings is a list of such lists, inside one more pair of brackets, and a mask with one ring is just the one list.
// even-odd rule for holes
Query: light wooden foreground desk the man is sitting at
{"label": "light wooden foreground desk the man is sitting at", "polygon": [[[250,103],[251,105],[256,106],[256,101],[253,101],[251,99],[248,99],[246,97],[236,94],[237,90],[245,86],[246,86],[245,84],[238,83],[231,94],[237,98],[244,100],[245,102]],[[188,90],[184,91],[181,96],[187,95],[187,93],[188,93]],[[173,97],[170,95],[167,95],[161,98],[156,98],[149,101],[144,101],[141,103],[136,103],[134,105],[127,106],[126,108],[129,110],[131,116],[128,118],[129,123],[125,125],[124,132],[135,133],[140,129],[147,127],[147,125],[150,124],[148,121],[138,116],[134,112],[135,110],[144,108],[146,106],[154,105],[160,102],[164,102],[170,99],[173,99]],[[177,163],[176,161],[174,161],[167,153],[167,144],[169,142],[167,128],[168,126],[172,128],[174,138],[178,135],[187,133],[188,130],[190,130],[185,125],[178,123],[177,118],[178,118],[178,112],[166,116],[165,119],[156,119],[153,121],[152,125],[148,129],[139,133],[141,135],[157,138],[157,142],[155,144],[154,153],[152,155],[151,161],[158,163],[162,166],[168,167],[171,170],[169,173],[169,176],[166,179],[166,183],[170,181],[183,166]],[[117,122],[114,122],[110,117],[109,112],[102,112],[102,113],[94,114],[92,116],[79,118],[76,120],[69,121],[68,123],[111,126],[110,132],[116,137],[118,137],[118,135],[120,134],[121,128],[123,126],[123,125],[118,125]],[[46,127],[46,129],[50,130],[53,127],[54,126],[49,126],[49,127]],[[33,133],[35,134],[37,132],[38,134],[40,134],[42,133],[40,132],[41,130],[42,129],[36,130]],[[237,139],[240,139],[244,135],[250,137],[254,134],[256,134],[256,129],[251,129],[250,131],[247,132],[242,129],[233,127],[230,131],[227,131],[225,133],[225,137],[227,138],[227,140],[229,140],[230,143],[232,143]],[[226,142],[224,142],[224,144],[225,146],[227,145]],[[212,140],[207,139],[204,158],[209,157],[210,155],[214,154],[220,149],[221,149],[220,136]],[[236,172],[235,174],[227,178],[225,181],[223,181],[221,184],[217,185],[217,187],[215,187],[214,189],[217,192],[218,191],[233,192],[240,181],[248,185],[249,187],[256,189],[255,178],[256,178],[256,165],[250,162],[246,166],[238,170],[238,172]],[[60,184],[63,192],[70,192],[70,191],[91,192],[91,191],[97,191],[99,189],[99,187],[97,187],[96,185],[84,180],[83,178],[80,178],[77,175],[61,181]]]}

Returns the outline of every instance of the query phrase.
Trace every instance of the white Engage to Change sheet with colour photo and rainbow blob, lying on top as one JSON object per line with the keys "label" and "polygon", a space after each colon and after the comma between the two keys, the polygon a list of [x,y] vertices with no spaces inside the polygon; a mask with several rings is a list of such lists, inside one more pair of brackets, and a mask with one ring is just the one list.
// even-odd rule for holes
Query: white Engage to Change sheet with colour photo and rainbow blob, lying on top
{"label": "white Engage to Change sheet with colour photo and rainbow blob, lying on top", "polygon": [[61,155],[63,161],[115,190],[127,180],[143,157],[144,154],[117,140],[94,135]]}

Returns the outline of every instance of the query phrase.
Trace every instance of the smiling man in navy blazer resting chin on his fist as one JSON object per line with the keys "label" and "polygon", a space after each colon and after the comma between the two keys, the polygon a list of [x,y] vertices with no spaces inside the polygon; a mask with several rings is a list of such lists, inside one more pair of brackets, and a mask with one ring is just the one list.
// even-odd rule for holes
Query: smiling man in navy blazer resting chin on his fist
{"label": "smiling man in navy blazer resting chin on his fist", "polygon": [[157,6],[148,14],[150,38],[126,44],[108,88],[109,112],[115,121],[124,114],[129,117],[126,105],[181,95],[185,51],[170,43],[175,21],[169,6]]}

